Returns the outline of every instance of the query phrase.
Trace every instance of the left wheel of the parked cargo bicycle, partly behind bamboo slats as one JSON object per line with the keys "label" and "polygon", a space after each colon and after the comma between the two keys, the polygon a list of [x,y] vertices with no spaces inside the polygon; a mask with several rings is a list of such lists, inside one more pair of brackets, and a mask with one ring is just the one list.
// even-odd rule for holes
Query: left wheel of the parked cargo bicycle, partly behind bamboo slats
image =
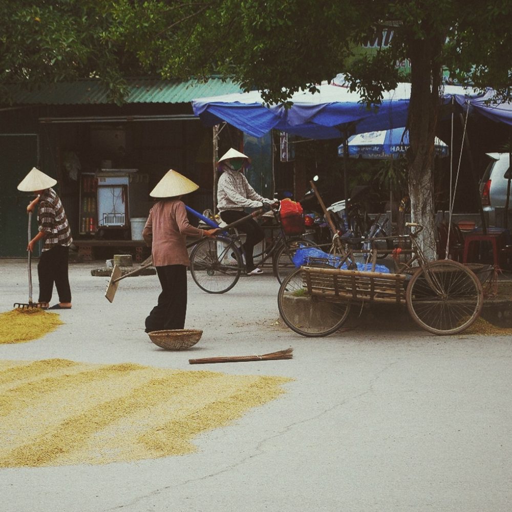
{"label": "left wheel of the parked cargo bicycle, partly behind bamboo slats", "polygon": [[302,336],[319,337],[336,332],[348,317],[350,303],[308,294],[302,273],[302,269],[295,269],[279,288],[278,308],[283,321]]}

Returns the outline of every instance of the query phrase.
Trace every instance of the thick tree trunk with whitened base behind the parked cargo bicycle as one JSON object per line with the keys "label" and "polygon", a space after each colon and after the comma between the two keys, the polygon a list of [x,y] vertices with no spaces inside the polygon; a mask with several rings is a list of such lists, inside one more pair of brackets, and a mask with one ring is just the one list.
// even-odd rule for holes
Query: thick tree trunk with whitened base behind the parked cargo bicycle
{"label": "thick tree trunk with whitened base behind the parked cargo bicycle", "polygon": [[[429,33],[426,28],[426,34]],[[433,162],[439,112],[443,38],[410,39],[411,100],[409,103],[408,178],[411,220],[423,226],[418,242],[426,259],[436,260]]]}

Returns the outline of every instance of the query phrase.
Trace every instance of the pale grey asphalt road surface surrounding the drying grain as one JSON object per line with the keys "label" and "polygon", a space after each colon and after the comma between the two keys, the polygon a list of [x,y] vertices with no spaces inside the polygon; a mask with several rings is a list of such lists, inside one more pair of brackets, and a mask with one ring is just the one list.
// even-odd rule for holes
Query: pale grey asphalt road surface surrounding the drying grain
{"label": "pale grey asphalt road surface surrounding the drying grain", "polygon": [[[363,317],[359,328],[304,338],[279,323],[279,286],[267,271],[215,296],[190,280],[186,327],[203,337],[188,351],[163,351],[143,332],[156,276],[123,280],[110,304],[108,279],[90,275],[100,264],[71,266],[65,325],[34,342],[0,345],[0,359],[130,361],[294,380],[278,399],[200,435],[195,454],[0,470],[4,512],[512,508],[509,336],[437,337],[403,313],[386,328]],[[26,301],[25,261],[0,260],[0,290],[0,312]],[[291,360],[188,364],[288,347]]]}

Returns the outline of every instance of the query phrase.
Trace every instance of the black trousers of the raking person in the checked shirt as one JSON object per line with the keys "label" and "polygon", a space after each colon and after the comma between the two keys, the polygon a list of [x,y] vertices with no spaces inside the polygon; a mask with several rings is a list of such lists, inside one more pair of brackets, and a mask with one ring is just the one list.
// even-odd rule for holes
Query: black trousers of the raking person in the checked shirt
{"label": "black trousers of the raking person in the checked shirt", "polygon": [[56,245],[42,251],[37,264],[39,277],[39,302],[52,300],[53,285],[57,288],[59,302],[71,302],[68,275],[69,247]]}

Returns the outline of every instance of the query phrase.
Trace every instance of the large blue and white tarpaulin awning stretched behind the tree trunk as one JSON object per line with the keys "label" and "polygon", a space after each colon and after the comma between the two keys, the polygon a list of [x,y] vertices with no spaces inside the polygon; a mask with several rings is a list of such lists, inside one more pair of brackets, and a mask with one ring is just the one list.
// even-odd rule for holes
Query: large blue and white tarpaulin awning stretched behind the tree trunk
{"label": "large blue and white tarpaulin awning stretched behind the tree trunk", "polygon": [[[223,121],[254,137],[262,137],[272,129],[312,139],[335,139],[346,131],[352,134],[388,130],[406,125],[411,84],[399,83],[383,94],[382,103],[367,108],[361,96],[335,82],[317,86],[318,93],[301,91],[290,101],[291,108],[265,105],[257,91],[227,94],[192,101],[194,114],[212,126]],[[445,86],[442,101],[452,96],[457,101],[481,97],[473,90]]]}

